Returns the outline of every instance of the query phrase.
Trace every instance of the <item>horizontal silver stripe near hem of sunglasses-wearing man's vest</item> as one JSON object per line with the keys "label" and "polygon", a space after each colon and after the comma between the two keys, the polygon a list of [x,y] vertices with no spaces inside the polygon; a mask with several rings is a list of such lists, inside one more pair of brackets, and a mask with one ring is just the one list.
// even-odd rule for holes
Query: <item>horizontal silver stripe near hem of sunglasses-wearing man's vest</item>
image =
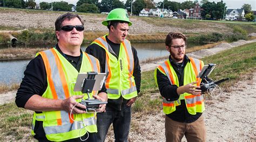
{"label": "horizontal silver stripe near hem of sunglasses-wearing man's vest", "polygon": [[59,126],[46,126],[44,127],[44,132],[45,134],[57,134],[57,133],[70,132],[72,130],[79,130],[85,126],[96,125],[97,119],[86,118],[83,121],[84,123],[81,123],[79,121],[74,121],[72,124],[66,123]]}

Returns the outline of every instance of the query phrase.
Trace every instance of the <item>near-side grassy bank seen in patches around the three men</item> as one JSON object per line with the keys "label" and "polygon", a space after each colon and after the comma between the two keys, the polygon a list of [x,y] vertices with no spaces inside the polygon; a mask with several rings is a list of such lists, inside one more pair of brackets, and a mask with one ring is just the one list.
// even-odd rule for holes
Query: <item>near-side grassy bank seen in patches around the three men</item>
{"label": "near-side grassy bank seen in patches around the three men", "polygon": [[[203,58],[205,64],[215,63],[217,67],[211,73],[214,80],[229,77],[230,80],[221,84],[225,92],[230,92],[230,86],[239,80],[252,79],[256,69],[256,43],[242,45],[216,55]],[[142,86],[136,103],[132,106],[133,118],[131,129],[139,126],[134,118],[142,117],[142,114],[159,113],[161,110],[161,97],[154,83],[153,71],[142,73]],[[10,113],[11,112],[11,113]],[[0,107],[1,140],[32,139],[30,126],[32,111],[17,108],[14,103],[4,104]]]}

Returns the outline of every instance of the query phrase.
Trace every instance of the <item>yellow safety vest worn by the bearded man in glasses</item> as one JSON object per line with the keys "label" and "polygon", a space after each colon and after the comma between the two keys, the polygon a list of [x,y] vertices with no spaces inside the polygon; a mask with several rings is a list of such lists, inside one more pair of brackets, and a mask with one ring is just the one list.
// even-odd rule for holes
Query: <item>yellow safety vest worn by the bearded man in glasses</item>
{"label": "yellow safety vest worn by the bearded man in glasses", "polygon": [[[197,81],[197,86],[200,86],[201,79],[197,78],[199,71],[204,66],[204,62],[198,59],[190,58],[184,68],[184,85]],[[170,60],[166,60],[163,64],[159,65],[154,71],[154,78],[157,84],[157,70],[168,77],[172,85],[177,85],[179,87],[179,80]],[[157,84],[158,86],[158,84]],[[197,112],[203,112],[205,110],[204,97],[203,95],[193,95],[189,93],[180,94],[178,100],[168,101],[163,97],[163,111],[165,114],[170,114],[176,110],[176,106],[180,105],[180,100],[185,99],[187,111],[190,114],[196,114]]]}

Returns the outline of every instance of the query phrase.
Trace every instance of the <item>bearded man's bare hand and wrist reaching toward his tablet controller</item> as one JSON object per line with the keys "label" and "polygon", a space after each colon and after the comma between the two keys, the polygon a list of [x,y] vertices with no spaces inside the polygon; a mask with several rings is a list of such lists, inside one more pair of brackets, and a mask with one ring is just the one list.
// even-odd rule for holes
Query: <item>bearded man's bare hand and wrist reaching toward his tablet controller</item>
{"label": "bearded man's bare hand and wrist reaching toward his tablet controller", "polygon": [[178,87],[177,93],[178,94],[190,93],[194,95],[201,94],[200,86],[194,85],[196,83],[197,82],[192,82],[190,84]]}

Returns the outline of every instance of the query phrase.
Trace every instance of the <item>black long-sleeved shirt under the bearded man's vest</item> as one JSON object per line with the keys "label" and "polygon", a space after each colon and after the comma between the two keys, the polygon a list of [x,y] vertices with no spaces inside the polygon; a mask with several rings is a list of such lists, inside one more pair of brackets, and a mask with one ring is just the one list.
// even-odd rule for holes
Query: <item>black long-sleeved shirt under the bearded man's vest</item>
{"label": "black long-sleeved shirt under the bearded man's vest", "polygon": [[[179,80],[179,86],[183,86],[184,82],[184,67],[188,62],[190,62],[190,59],[185,55],[185,58],[183,60],[183,63],[175,63],[171,59],[171,56],[169,56],[169,60],[171,65],[173,66],[174,71],[177,74],[178,80]],[[159,70],[157,70],[157,83],[158,88],[160,91],[161,96],[163,96],[168,101],[178,100],[179,94],[177,93],[177,85],[171,85],[170,80],[167,76],[165,76],[163,73],[161,73]],[[193,121],[196,121],[202,113],[197,112],[197,114],[192,115],[188,113],[185,100],[180,100],[180,105],[176,106],[176,111],[167,114],[169,118],[171,118],[174,121],[179,121],[181,123],[192,123]]]}

